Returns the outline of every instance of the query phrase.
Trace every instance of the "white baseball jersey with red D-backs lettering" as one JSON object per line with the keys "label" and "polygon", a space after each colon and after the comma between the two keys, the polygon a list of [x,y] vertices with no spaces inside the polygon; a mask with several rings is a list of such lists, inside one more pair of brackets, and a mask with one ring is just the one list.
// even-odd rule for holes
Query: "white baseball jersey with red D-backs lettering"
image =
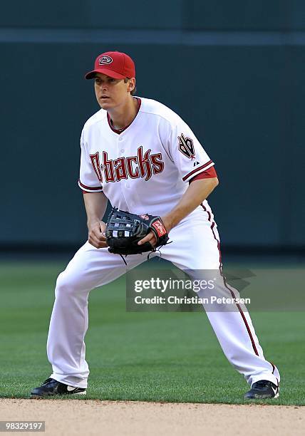
{"label": "white baseball jersey with red D-backs lettering", "polygon": [[81,135],[78,183],[86,192],[103,191],[121,210],[162,215],[214,162],[179,115],[155,100],[139,102],[138,115],[120,135],[106,110],[89,118]]}

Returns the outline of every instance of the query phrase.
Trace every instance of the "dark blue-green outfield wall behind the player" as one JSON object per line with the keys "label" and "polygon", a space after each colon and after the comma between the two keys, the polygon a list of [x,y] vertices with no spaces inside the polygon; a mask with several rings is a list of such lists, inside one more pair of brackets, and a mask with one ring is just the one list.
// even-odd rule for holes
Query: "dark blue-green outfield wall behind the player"
{"label": "dark blue-green outfield wall behind the player", "polygon": [[179,113],[216,162],[223,244],[304,246],[304,6],[139,1],[126,26],[123,2],[111,22],[97,1],[61,3],[1,14],[0,244],[86,239],[79,135],[98,105],[83,74],[116,49],[135,58],[138,95]]}

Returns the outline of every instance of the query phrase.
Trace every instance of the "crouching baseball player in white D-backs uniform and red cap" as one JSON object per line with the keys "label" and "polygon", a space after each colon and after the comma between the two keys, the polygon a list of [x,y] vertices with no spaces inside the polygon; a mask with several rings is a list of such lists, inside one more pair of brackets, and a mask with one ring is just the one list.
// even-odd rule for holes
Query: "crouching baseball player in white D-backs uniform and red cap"
{"label": "crouching baseball player in white D-backs uniform and red cap", "polygon": [[[147,260],[145,253],[133,254],[125,257],[125,265],[108,251],[101,221],[108,200],[122,211],[161,217],[172,241],[160,248],[163,259],[194,271],[193,277],[196,271],[222,271],[219,234],[207,203],[217,174],[197,137],[170,108],[133,95],[135,64],[127,54],[100,54],[86,78],[94,80],[100,105],[81,134],[78,185],[88,241],[58,276],[47,343],[53,373],[31,398],[86,394],[89,292]],[[138,244],[145,242],[155,246],[155,233]],[[229,292],[234,296],[237,291]],[[236,304],[234,311],[207,311],[207,316],[227,359],[250,385],[245,398],[278,397],[279,371],[264,358],[249,313]]]}

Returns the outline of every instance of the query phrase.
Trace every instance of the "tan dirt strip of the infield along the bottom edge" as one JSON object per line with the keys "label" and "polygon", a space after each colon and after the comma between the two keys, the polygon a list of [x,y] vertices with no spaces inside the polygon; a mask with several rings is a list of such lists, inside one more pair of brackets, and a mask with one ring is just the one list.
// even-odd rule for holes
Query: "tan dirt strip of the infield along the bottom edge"
{"label": "tan dirt strip of the infield along the bottom edge", "polygon": [[305,407],[0,399],[0,420],[43,420],[54,436],[296,436]]}

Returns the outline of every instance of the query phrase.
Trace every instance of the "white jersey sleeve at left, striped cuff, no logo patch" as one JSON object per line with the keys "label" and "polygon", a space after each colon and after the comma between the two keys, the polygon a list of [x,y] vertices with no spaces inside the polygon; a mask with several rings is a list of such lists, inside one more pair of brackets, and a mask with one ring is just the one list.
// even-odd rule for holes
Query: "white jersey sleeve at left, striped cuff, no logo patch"
{"label": "white jersey sleeve at left, striped cuff, no logo patch", "polygon": [[84,140],[84,133],[81,134],[81,167],[78,186],[85,192],[102,192],[101,174],[99,167],[98,153],[89,155],[88,146]]}

